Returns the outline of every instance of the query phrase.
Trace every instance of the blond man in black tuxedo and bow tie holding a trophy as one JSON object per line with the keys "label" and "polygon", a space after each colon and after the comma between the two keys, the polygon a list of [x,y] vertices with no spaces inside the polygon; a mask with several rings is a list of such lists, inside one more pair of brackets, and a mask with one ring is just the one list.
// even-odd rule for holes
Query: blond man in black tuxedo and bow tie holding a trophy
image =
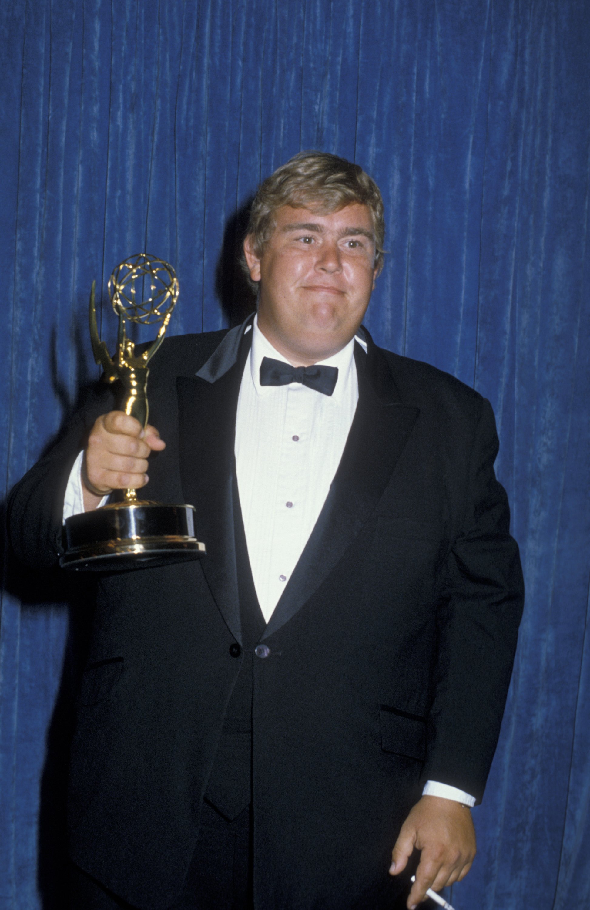
{"label": "blond man in black tuxedo and bow tie holding a trophy", "polygon": [[99,389],[13,492],[29,563],[148,480],[207,548],[97,581],[76,908],[385,910],[469,870],[522,573],[489,404],[361,325],[384,233],[360,167],[279,167],[245,238],[254,318],[167,339],[153,426]]}

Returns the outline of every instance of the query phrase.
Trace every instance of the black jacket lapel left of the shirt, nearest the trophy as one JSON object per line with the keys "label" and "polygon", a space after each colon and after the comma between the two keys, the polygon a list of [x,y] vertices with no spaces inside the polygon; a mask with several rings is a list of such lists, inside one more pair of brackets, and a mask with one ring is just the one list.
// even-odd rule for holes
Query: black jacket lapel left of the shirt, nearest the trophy
{"label": "black jacket lapel left of the shirt, nearest the trophy", "polygon": [[235,412],[250,338],[246,336],[229,369],[224,364],[223,370],[215,369],[204,379],[202,368],[195,377],[176,381],[185,501],[195,506],[195,532],[207,548],[201,560],[205,579],[227,627],[240,643],[232,478]]}

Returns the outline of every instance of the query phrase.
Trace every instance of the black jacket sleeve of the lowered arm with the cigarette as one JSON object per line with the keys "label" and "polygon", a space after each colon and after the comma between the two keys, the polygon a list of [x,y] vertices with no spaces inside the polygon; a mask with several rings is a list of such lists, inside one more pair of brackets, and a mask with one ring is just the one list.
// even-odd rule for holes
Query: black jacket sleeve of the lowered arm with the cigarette
{"label": "black jacket sleeve of the lowered arm with the cigarette", "polygon": [[500,733],[525,593],[508,501],[495,479],[497,450],[494,414],[482,399],[464,519],[437,608],[424,768],[425,780],[458,787],[477,803]]}

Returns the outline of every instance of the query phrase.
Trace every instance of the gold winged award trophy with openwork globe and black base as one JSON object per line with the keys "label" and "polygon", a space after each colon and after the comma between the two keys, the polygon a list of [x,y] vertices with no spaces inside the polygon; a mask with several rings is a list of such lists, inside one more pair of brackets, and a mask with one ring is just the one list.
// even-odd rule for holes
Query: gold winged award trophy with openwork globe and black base
{"label": "gold winged award trophy with openwork globe and black base", "polygon": [[[145,287],[149,288],[146,298]],[[93,354],[104,370],[103,379],[120,382],[121,410],[145,428],[148,363],[164,340],[178,299],[178,279],[167,262],[140,253],[115,268],[108,292],[119,318],[115,355],[111,358],[98,335],[95,282],[89,308]],[[135,343],[127,335],[128,322],[161,324],[154,342],[139,354],[135,354]],[[116,571],[197,559],[205,555],[205,544],[195,538],[194,515],[192,505],[138,500],[135,490],[125,490],[120,501],[66,519],[66,550],[60,563],[64,569]]]}

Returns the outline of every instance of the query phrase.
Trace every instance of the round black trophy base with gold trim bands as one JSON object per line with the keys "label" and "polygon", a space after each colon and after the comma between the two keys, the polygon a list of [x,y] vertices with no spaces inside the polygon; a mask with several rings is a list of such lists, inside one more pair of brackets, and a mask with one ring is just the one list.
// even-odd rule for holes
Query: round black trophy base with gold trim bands
{"label": "round black trophy base with gold trim bands", "polygon": [[205,556],[195,538],[195,507],[114,502],[65,520],[62,569],[127,571]]}

